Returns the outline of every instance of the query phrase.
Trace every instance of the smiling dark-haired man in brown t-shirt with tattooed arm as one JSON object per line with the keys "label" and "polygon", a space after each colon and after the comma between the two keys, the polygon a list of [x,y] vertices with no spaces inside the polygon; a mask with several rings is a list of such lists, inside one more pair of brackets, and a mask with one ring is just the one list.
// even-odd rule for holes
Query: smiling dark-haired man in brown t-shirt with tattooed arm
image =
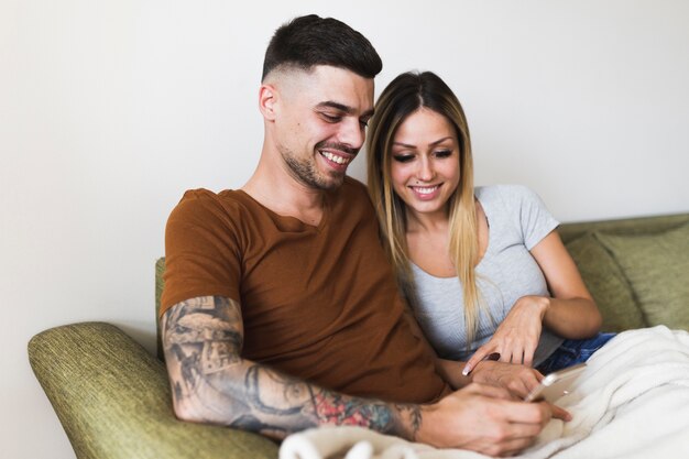
{"label": "smiling dark-haired man in brown t-shirt with tattooed arm", "polygon": [[491,385],[451,392],[404,315],[365,189],[346,176],[381,68],[369,41],[331,18],[273,35],[254,174],[240,190],[187,192],[167,223],[161,327],[175,413],[274,438],[359,425],[516,452],[550,406]]}

